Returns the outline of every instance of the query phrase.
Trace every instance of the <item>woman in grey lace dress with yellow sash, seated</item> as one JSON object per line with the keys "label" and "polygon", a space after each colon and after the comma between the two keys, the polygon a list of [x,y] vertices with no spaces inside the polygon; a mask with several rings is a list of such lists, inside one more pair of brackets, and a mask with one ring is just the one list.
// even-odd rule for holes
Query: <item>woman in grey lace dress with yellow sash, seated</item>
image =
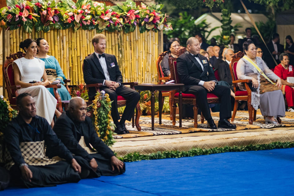
{"label": "woman in grey lace dress with yellow sash, seated", "polygon": [[[256,89],[251,93],[251,104],[255,110],[260,108],[266,123],[277,124],[274,117],[285,116],[285,100],[282,91],[279,89],[281,78],[271,71],[260,57],[256,57],[256,47],[251,40],[243,43],[245,56],[238,61],[236,73],[240,80],[251,80],[252,86]],[[273,85],[247,60],[246,56],[254,62],[262,72],[276,85]],[[243,83],[238,83],[241,90],[246,90]]]}

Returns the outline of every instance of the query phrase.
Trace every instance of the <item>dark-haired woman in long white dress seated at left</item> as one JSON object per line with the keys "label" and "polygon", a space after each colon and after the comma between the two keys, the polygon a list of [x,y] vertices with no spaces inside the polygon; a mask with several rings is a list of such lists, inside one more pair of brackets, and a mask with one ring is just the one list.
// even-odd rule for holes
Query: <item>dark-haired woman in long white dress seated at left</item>
{"label": "dark-haired woman in long white dress seated at left", "polygon": [[[14,82],[15,85],[21,86],[17,92],[31,94],[36,101],[36,114],[53,126],[54,113],[57,116],[61,113],[56,109],[57,100],[45,87],[48,85],[48,79],[44,61],[34,57],[37,53],[37,43],[35,40],[26,39],[19,44],[19,47],[26,52],[26,55],[13,61]],[[30,83],[33,81],[36,82]]]}

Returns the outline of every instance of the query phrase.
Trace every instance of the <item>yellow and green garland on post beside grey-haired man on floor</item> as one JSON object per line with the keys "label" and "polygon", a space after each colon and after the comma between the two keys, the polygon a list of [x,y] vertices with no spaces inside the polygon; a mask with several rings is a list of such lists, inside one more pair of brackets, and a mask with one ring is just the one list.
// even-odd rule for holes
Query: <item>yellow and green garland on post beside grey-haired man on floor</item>
{"label": "yellow and green garland on post beside grey-haired man on floor", "polygon": [[105,96],[104,100],[100,100],[100,93],[97,92],[93,103],[87,108],[87,111],[92,111],[92,123],[97,135],[106,145],[112,146],[115,143],[112,138],[112,130],[115,125],[111,120],[111,100],[107,93]]}

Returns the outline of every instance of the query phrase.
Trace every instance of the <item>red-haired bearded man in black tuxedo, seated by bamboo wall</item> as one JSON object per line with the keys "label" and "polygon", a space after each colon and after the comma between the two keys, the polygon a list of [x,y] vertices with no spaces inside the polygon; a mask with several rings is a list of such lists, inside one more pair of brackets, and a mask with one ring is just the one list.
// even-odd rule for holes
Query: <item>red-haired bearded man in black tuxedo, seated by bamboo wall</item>
{"label": "red-haired bearded man in black tuxedo, seated by bamboo wall", "polygon": [[[125,87],[122,73],[119,70],[114,55],[105,54],[106,37],[103,34],[96,34],[92,39],[94,53],[84,60],[84,80],[86,84],[101,83],[104,90],[108,93],[111,101],[111,117],[116,126],[115,133],[126,134],[125,121],[130,121],[134,113],[134,109],[140,100],[140,94],[133,89]],[[89,89],[89,97],[93,98],[96,94],[94,87]],[[119,117],[117,110],[117,96],[123,96],[127,100],[126,108],[122,118]],[[120,119],[120,121],[118,121]]]}

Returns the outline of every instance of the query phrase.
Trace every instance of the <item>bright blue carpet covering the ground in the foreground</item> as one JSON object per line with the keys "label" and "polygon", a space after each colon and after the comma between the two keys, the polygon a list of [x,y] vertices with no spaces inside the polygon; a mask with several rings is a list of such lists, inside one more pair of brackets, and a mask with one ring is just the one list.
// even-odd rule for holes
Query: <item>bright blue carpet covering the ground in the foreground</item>
{"label": "bright blue carpet covering the ground in the foreground", "polygon": [[0,195],[292,195],[294,148],[126,163],[126,173]]}

